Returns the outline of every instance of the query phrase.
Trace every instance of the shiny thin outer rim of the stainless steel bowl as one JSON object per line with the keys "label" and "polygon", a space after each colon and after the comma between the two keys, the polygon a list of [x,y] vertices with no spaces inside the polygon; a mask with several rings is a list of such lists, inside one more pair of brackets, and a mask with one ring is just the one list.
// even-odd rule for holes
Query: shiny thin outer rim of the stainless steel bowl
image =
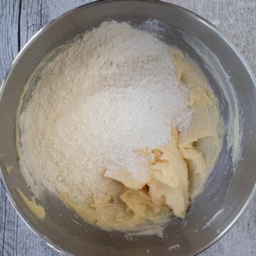
{"label": "shiny thin outer rim of the stainless steel bowl", "polygon": [[[50,26],[53,25],[53,23],[58,22],[59,20],[61,20],[62,18],[65,18],[66,16],[69,16],[70,14],[75,13],[76,11],[79,11],[80,9],[84,9],[87,8],[89,6],[93,6],[93,5],[97,5],[97,4],[102,4],[102,3],[106,3],[106,2],[115,2],[118,0],[97,0],[91,3],[87,3],[87,4],[82,4],[81,6],[75,7],[74,9],[71,9],[69,11],[65,11],[63,14],[61,14],[60,16],[53,18],[52,21],[50,21],[49,23],[47,23],[45,26],[43,26],[42,28],[40,28],[27,42],[26,44],[21,48],[21,50],[18,52],[18,54],[16,55],[16,57],[14,58],[13,62],[11,63],[11,67],[9,68],[9,70],[6,73],[6,78],[4,78],[3,82],[0,85],[0,101],[1,101],[1,96],[2,96],[2,92],[4,91],[4,88],[6,87],[6,85],[8,84],[8,80],[9,77],[11,75],[12,70],[15,68],[16,63],[18,63],[18,61],[20,60],[20,58],[22,58],[23,53],[31,46],[31,44],[37,40],[37,38],[44,33],[44,31],[46,31]],[[123,0],[125,1],[125,0]],[[218,36],[220,36],[220,38],[225,41],[225,43],[227,43],[227,45],[233,50],[233,53],[235,53],[237,55],[237,57],[239,58],[239,60],[241,61],[242,65],[244,65],[245,70],[247,70],[247,73],[250,75],[250,78],[252,79],[254,85],[255,85],[255,89],[256,89],[256,78],[255,75],[252,73],[252,70],[250,69],[250,66],[248,65],[247,61],[245,60],[245,58],[242,56],[242,54],[239,52],[238,48],[236,48],[233,43],[230,41],[230,39],[225,36],[223,34],[222,31],[220,31],[219,28],[217,28],[216,26],[214,26],[212,23],[210,23],[210,21],[206,20],[206,18],[202,18],[201,16],[199,16],[198,14],[195,14],[193,11],[190,11],[186,8],[183,8],[181,6],[178,6],[176,4],[171,4],[171,3],[167,3],[164,1],[159,1],[159,0],[129,0],[129,1],[145,1],[145,2],[150,2],[153,4],[162,4],[165,6],[169,6],[175,9],[178,9],[180,11],[185,12],[186,14],[193,16],[193,18],[196,18],[196,20],[200,21],[201,23],[203,23],[204,25],[206,25],[210,30],[212,30],[213,32],[215,32]],[[42,235],[36,228],[33,227],[33,224],[31,223],[30,220],[28,220],[28,218],[26,218],[22,211],[18,208],[18,206],[16,205],[14,199],[11,197],[11,193],[9,191],[8,186],[6,186],[6,181],[4,179],[4,174],[3,174],[3,166],[0,166],[0,175],[1,175],[1,179],[4,183],[4,188],[6,190],[6,195],[9,198],[9,201],[11,202],[11,205],[14,207],[14,209],[16,210],[16,213],[18,213],[19,217],[23,220],[24,223],[26,223],[26,225],[28,226],[28,228],[30,228],[34,233],[36,233],[36,235],[38,235],[39,237],[43,238],[43,240],[46,241],[46,243],[52,247],[54,250],[57,250],[58,252],[66,252],[65,250],[61,249],[58,245],[55,245],[49,238],[47,238],[46,236]],[[203,252],[204,250],[206,250],[208,247],[210,247],[211,245],[213,245],[215,242],[217,242],[218,240],[220,240],[220,238],[223,237],[223,235],[225,235],[228,230],[230,230],[230,228],[233,227],[233,225],[236,223],[236,221],[238,220],[238,218],[240,218],[240,216],[242,215],[242,213],[244,213],[245,209],[247,208],[247,206],[249,205],[250,201],[252,200],[254,194],[256,192],[256,183],[255,186],[252,188],[252,191],[250,192],[250,196],[248,196],[247,201],[245,202],[245,204],[242,206],[242,208],[240,209],[238,215],[236,215],[233,220],[230,221],[229,225],[227,225],[225,227],[225,229],[223,229],[223,231],[221,233],[219,233],[213,240],[211,240],[210,242],[208,242],[207,245],[205,245],[204,247],[201,247],[200,249],[196,250],[195,252],[193,252],[194,255],[197,255],[200,252]],[[101,245],[97,245],[98,247],[102,247],[105,248]],[[70,252],[68,252],[70,253]]]}

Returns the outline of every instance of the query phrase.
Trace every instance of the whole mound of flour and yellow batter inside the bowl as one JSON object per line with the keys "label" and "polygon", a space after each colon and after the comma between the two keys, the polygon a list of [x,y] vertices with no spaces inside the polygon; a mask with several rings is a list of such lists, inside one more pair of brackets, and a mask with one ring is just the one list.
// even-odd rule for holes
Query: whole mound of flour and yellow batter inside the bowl
{"label": "whole mound of flour and yellow batter inside the bowl", "polygon": [[18,129],[36,196],[48,188],[86,221],[122,231],[185,218],[222,146],[218,101],[198,66],[115,21],[55,54]]}

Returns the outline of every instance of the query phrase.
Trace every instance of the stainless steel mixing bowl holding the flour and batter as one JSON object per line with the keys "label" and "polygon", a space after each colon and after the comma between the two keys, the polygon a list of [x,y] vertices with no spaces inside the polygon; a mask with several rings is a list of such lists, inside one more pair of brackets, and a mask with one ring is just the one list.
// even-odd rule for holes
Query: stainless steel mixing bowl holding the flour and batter
{"label": "stainless steel mixing bowl holding the flour and batter", "polygon": [[[206,189],[193,202],[186,220],[174,219],[165,238],[142,236],[127,240],[124,233],[101,230],[84,223],[58,198],[49,195],[41,203],[46,219],[41,222],[24,205],[16,188],[31,193],[18,168],[15,147],[15,113],[23,86],[38,63],[78,34],[106,19],[141,23],[146,18],[161,21],[162,40],[188,53],[208,77],[215,90],[225,121],[235,104],[242,112],[242,155],[235,170],[224,141]],[[197,46],[189,38],[201,41]],[[192,40],[193,41],[193,40]],[[202,49],[206,46],[206,51]],[[198,48],[197,48],[198,47]],[[203,53],[203,54],[201,54]],[[206,54],[208,58],[206,58]],[[230,77],[228,80],[227,73]],[[235,223],[252,198],[256,181],[256,90],[255,78],[234,46],[214,26],[178,6],[159,1],[100,1],[60,16],[36,33],[18,54],[0,91],[1,175],[10,201],[21,218],[56,250],[75,255],[193,255],[218,240]],[[223,93],[223,90],[226,93]],[[227,98],[231,104],[227,104]],[[233,102],[233,103],[232,103]],[[233,123],[228,124],[233,126]],[[9,166],[12,170],[9,173]],[[76,221],[74,222],[73,219]]]}

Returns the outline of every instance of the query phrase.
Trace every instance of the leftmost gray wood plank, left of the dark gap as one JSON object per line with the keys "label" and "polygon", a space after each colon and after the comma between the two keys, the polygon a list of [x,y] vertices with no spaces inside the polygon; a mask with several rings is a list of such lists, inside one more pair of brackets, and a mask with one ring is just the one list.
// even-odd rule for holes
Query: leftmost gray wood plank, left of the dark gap
{"label": "leftmost gray wood plank, left of the dark gap", "polygon": [[[0,81],[18,53],[19,1],[0,2]],[[16,255],[18,215],[0,181],[0,255]]]}

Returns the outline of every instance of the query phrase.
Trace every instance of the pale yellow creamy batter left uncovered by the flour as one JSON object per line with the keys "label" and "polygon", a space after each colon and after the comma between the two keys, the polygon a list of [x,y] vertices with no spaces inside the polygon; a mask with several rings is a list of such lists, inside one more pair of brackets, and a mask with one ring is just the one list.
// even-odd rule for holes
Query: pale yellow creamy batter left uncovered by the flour
{"label": "pale yellow creamy batter left uncovered by the flour", "polygon": [[220,153],[222,121],[214,93],[198,66],[181,50],[171,48],[171,55],[180,86],[191,87],[188,105],[194,113],[188,131],[179,133],[172,127],[168,146],[145,152],[154,157],[144,184],[128,174],[118,174],[112,178],[125,186],[119,187],[117,194],[95,198],[89,207],[78,206],[70,193],[60,194],[82,218],[102,228],[145,230],[149,223],[161,226],[171,214],[185,218],[189,202],[203,191]]}

